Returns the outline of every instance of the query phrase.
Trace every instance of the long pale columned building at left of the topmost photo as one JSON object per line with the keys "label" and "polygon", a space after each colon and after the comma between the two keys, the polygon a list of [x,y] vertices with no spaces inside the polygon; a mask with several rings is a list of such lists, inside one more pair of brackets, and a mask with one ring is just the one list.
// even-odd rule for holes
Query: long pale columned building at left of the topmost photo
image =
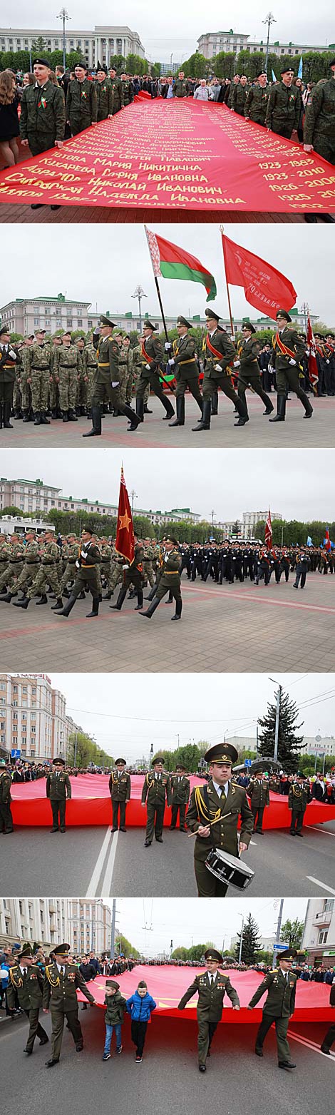
{"label": "long pale columned building at left of the topmost photo", "polygon": [[[33,51],[33,43],[42,38],[48,52],[62,50],[61,23],[52,30],[46,31],[43,28],[0,28],[0,51],[29,50]],[[97,62],[108,64],[112,56],[119,55],[127,58],[127,55],[138,55],[145,58],[145,48],[137,31],[131,31],[130,27],[95,27],[93,30],[75,31],[72,27],[66,28],[66,52],[72,50],[80,52],[89,69],[95,69]]]}

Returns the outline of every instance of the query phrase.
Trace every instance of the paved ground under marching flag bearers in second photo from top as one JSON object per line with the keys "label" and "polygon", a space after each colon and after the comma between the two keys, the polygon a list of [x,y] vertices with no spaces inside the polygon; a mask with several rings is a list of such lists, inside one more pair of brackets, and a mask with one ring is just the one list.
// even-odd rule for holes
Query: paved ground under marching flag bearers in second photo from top
{"label": "paved ground under marching flag bearers in second photo from top", "polygon": [[[277,396],[272,394],[276,411]],[[175,406],[175,398],[171,396]],[[211,417],[210,429],[194,434],[191,427],[199,420],[199,408],[190,395],[186,395],[185,426],[170,429],[169,423],[162,420],[164,409],[156,396],[149,400],[151,415],[147,415],[142,425],[134,434],[128,433],[127,418],[102,418],[101,437],[83,439],[90,428],[87,418],[77,423],[62,423],[61,419],[50,419],[50,426],[35,426],[11,418],[12,429],[2,429],[1,446],[3,448],[76,448],[91,452],[95,448],[136,447],[154,448],[335,448],[335,398],[313,399],[314,414],[311,419],[304,419],[304,407],[295,395],[290,396],[286,407],[285,423],[269,423],[264,415],[264,405],[256,395],[247,391],[249,421],[246,426],[235,427],[237,415],[231,403],[219,391],[218,415]],[[135,409],[135,399],[131,400]],[[275,413],[274,411],[274,413]]]}

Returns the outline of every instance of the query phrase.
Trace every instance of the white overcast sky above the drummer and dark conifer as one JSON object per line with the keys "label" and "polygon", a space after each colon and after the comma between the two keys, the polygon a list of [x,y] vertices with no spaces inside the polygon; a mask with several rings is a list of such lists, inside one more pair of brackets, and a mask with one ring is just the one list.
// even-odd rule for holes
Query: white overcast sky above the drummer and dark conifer
{"label": "white overcast sky above the drummer and dark conifer", "polygon": [[128,763],[148,758],[151,744],[155,752],[159,747],[174,750],[200,739],[216,744],[235,735],[255,739],[257,718],[274,699],[274,681],[279,681],[296,702],[302,735],[334,733],[335,687],[327,673],[278,673],[274,681],[264,673],[246,673],[243,701],[238,673],[204,673],[200,688],[191,673],[168,678],[157,673],[155,686],[146,675],[119,673],[117,679],[99,673],[50,677],[52,686],[65,694],[67,712],[76,724],[95,736],[114,758],[121,754]]}

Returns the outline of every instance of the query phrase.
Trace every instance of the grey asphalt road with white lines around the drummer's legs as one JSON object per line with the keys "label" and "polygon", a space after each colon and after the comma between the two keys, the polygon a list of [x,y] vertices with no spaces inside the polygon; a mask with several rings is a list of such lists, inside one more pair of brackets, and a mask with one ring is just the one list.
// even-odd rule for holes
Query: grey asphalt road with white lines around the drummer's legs
{"label": "grey asphalt road with white lines around the drummer's legs", "polygon": [[[255,871],[253,898],[326,898],[335,894],[335,822],[304,828],[304,838],[288,831],[255,834],[246,861]],[[0,886],[17,894],[53,896],[196,896],[193,837],[164,831],[164,845],[144,847],[145,830],[68,828],[49,835],[46,828],[16,828],[1,840]],[[236,898],[238,891],[228,891]]]}

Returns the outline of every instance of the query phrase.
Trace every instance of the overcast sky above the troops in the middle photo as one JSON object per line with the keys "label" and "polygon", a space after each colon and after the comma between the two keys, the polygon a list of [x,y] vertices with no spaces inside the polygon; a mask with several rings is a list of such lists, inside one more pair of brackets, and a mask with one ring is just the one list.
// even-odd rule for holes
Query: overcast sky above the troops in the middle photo
{"label": "overcast sky above the troops in the middle photo", "polygon": [[[80,438],[78,438],[80,445]],[[118,504],[124,464],[135,511],[190,507],[215,522],[244,511],[334,520],[333,449],[2,449],[1,476],[40,478],[65,496]],[[183,530],[180,527],[183,536]]]}

